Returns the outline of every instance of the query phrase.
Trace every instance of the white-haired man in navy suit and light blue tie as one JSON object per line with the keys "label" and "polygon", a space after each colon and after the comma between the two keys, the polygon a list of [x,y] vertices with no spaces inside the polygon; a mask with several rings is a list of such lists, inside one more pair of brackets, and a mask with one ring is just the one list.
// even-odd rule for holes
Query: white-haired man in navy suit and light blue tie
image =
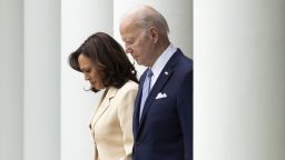
{"label": "white-haired man in navy suit and light blue tie", "polygon": [[126,52],[148,67],[134,112],[134,160],[193,160],[193,61],[168,39],[165,18],[149,6],[121,20]]}

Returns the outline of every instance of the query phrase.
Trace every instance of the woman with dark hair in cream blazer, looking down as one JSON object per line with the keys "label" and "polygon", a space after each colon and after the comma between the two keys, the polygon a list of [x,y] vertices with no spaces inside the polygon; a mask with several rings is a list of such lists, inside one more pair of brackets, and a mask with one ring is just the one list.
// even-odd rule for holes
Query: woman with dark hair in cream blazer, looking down
{"label": "woman with dark hair in cream blazer, looking down", "polygon": [[69,56],[69,64],[85,74],[90,90],[105,89],[90,118],[94,160],[130,160],[138,80],[124,49],[110,36],[97,32]]}

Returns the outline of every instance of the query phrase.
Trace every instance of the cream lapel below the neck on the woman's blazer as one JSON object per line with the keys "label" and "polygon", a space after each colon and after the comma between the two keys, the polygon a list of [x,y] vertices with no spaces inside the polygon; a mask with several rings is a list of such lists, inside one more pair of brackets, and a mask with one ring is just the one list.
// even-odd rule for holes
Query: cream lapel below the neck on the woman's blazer
{"label": "cream lapel below the neck on the woman's blazer", "polygon": [[109,108],[111,99],[116,96],[117,89],[110,87],[107,90],[107,93],[102,100],[102,102],[98,106],[97,111],[95,112],[94,117],[91,118],[91,124],[95,126],[104,112]]}

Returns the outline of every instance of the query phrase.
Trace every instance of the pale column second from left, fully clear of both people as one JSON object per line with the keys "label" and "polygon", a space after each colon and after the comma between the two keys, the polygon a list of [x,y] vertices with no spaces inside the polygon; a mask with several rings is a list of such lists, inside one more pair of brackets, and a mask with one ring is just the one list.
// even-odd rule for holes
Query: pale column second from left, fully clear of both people
{"label": "pale column second from left, fully clear of both people", "polygon": [[24,160],[60,159],[60,1],[24,0]]}

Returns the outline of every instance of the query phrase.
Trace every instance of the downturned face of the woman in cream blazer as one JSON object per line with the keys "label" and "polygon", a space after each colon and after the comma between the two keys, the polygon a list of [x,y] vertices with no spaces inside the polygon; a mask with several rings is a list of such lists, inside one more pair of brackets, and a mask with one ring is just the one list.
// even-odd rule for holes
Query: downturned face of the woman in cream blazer
{"label": "downturned face of the woman in cream blazer", "polygon": [[79,54],[78,63],[80,70],[85,74],[85,80],[88,80],[90,82],[91,88],[95,88],[97,90],[105,88],[101,81],[101,76],[88,57],[83,56],[82,53]]}

